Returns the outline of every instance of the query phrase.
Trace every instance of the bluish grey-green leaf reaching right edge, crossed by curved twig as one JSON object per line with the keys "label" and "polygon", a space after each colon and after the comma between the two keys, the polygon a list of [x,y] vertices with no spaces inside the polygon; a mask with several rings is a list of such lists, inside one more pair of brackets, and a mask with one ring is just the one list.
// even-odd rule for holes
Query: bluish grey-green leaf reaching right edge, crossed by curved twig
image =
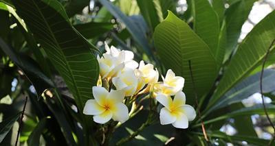
{"label": "bluish grey-green leaf reaching right edge, crossed by curved twig", "polygon": [[[260,93],[260,77],[261,73],[256,73],[245,80],[241,81],[231,88],[228,93],[217,101],[217,104],[210,108],[209,112],[212,110],[217,110],[225,106],[230,106],[237,102],[241,102],[243,99],[248,98],[254,93]],[[267,69],[263,73],[263,93],[270,93],[275,90],[275,71],[273,69]]]}

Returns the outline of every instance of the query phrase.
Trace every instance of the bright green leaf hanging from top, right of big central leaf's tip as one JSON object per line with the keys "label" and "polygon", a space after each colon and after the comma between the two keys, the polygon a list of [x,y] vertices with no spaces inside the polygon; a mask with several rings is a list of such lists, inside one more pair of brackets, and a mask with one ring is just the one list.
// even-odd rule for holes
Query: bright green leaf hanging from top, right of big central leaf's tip
{"label": "bright green leaf hanging from top, right of big central leaf's tip", "polygon": [[[219,18],[208,0],[193,0],[194,30],[206,42],[215,60],[221,56],[219,44]],[[217,64],[220,64],[217,61]],[[219,67],[219,66],[218,66]]]}

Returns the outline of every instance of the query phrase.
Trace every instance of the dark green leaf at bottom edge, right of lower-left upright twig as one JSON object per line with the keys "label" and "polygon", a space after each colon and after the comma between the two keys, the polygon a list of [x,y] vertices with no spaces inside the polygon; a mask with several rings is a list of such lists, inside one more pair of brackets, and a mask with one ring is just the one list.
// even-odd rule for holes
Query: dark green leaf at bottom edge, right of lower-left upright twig
{"label": "dark green leaf at bottom edge, right of lower-left upright twig", "polygon": [[39,121],[39,123],[37,123],[36,127],[34,127],[34,129],[32,130],[32,133],[30,134],[29,138],[28,138],[28,145],[32,146],[32,145],[39,145],[40,143],[40,136],[46,126],[47,123],[47,119],[43,118]]}

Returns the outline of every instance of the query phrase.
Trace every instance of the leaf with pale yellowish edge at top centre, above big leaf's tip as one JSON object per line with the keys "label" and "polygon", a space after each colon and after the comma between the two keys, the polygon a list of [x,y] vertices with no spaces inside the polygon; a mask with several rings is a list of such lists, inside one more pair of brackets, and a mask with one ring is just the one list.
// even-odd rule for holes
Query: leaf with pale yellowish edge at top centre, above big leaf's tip
{"label": "leaf with pale yellowish edge at top centre, above big leaf's tip", "polygon": [[137,5],[151,32],[153,32],[155,27],[163,21],[159,0],[137,0]]}

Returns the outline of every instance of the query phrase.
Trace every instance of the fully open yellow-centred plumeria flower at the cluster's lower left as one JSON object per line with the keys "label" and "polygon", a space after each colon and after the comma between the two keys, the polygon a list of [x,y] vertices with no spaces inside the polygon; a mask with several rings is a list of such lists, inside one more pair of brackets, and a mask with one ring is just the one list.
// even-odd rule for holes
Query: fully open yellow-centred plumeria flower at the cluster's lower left
{"label": "fully open yellow-centred plumeria flower at the cluster's lower left", "polygon": [[83,113],[94,115],[96,123],[107,123],[110,119],[124,123],[129,119],[129,111],[123,104],[124,92],[122,90],[111,90],[109,93],[100,86],[93,87],[95,99],[89,99],[84,107]]}

